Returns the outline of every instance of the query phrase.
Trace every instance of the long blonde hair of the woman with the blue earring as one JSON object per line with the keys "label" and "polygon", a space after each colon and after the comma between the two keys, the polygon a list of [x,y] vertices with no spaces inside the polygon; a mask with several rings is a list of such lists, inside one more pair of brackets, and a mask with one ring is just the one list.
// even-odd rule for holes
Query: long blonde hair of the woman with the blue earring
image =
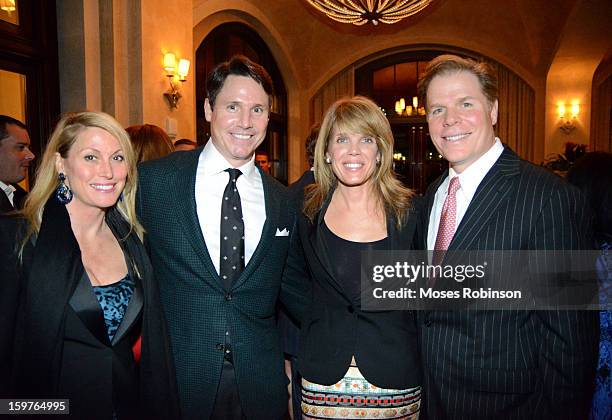
{"label": "long blonde hair of the woman with the blue earring", "polygon": [[130,138],[123,127],[110,115],[103,112],[85,111],[64,115],[55,126],[53,134],[51,134],[45,153],[36,170],[36,183],[28,195],[23,209],[23,214],[29,222],[29,230],[24,243],[32,234],[37,234],[40,231],[45,204],[59,185],[59,174],[55,166],[56,153],[59,153],[63,158],[67,158],[79,135],[87,128],[92,127],[106,131],[119,141],[128,168],[128,175],[122,192],[123,198],[115,203],[115,207],[129,223],[130,230],[134,230],[142,239],[144,229],[136,218],[138,175]]}

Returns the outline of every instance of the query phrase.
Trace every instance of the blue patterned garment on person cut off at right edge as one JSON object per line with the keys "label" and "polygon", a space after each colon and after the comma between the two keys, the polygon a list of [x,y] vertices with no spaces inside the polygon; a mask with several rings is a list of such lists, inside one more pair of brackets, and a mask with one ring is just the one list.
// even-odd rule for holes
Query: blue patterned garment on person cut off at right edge
{"label": "blue patterned garment on person cut off at right edge", "polygon": [[[599,279],[599,302],[603,305],[612,303],[612,242],[605,242],[602,254],[597,260],[597,277]],[[599,361],[595,376],[595,394],[591,409],[591,419],[612,419],[612,311],[601,311]]]}

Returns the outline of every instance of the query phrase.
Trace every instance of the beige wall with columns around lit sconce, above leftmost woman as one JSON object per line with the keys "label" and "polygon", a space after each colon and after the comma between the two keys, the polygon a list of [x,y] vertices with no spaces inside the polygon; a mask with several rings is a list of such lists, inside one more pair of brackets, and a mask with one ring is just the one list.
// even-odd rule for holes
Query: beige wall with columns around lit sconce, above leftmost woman
{"label": "beige wall with columns around lit sconce, above leftmost woman", "polygon": [[191,0],[58,2],[62,112],[101,110],[124,126],[164,129],[171,118],[177,137],[195,138],[193,68],[171,110],[162,67],[168,51],[193,62],[191,11]]}

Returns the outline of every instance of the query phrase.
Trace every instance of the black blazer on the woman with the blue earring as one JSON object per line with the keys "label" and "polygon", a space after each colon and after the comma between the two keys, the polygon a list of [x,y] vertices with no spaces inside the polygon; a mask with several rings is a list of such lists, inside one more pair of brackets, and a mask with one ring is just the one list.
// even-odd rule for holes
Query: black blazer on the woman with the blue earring
{"label": "black blazer on the woman with the blue earring", "polygon": [[[52,198],[40,232],[28,243],[23,270],[11,284],[21,291],[15,329],[11,394],[27,398],[70,398],[74,418],[176,418],[178,398],[159,292],[144,246],[118,211],[107,223],[123,249],[136,282],[112,342],[84,268],[65,206]],[[24,225],[23,219],[2,223]],[[23,233],[23,228],[11,228]],[[20,236],[20,237],[19,237]],[[13,239],[20,243],[23,236]],[[3,264],[18,265],[16,255]],[[132,346],[142,334],[140,365]]]}

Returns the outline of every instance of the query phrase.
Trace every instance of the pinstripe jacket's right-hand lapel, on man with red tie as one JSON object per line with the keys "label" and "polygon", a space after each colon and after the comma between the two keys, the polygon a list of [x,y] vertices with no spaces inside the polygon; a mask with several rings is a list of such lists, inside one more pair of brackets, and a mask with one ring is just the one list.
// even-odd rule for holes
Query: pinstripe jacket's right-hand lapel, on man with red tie
{"label": "pinstripe jacket's right-hand lapel, on man with red tie", "polygon": [[488,221],[506,205],[519,175],[519,157],[506,148],[476,189],[468,209],[457,227],[449,250],[468,249]]}

